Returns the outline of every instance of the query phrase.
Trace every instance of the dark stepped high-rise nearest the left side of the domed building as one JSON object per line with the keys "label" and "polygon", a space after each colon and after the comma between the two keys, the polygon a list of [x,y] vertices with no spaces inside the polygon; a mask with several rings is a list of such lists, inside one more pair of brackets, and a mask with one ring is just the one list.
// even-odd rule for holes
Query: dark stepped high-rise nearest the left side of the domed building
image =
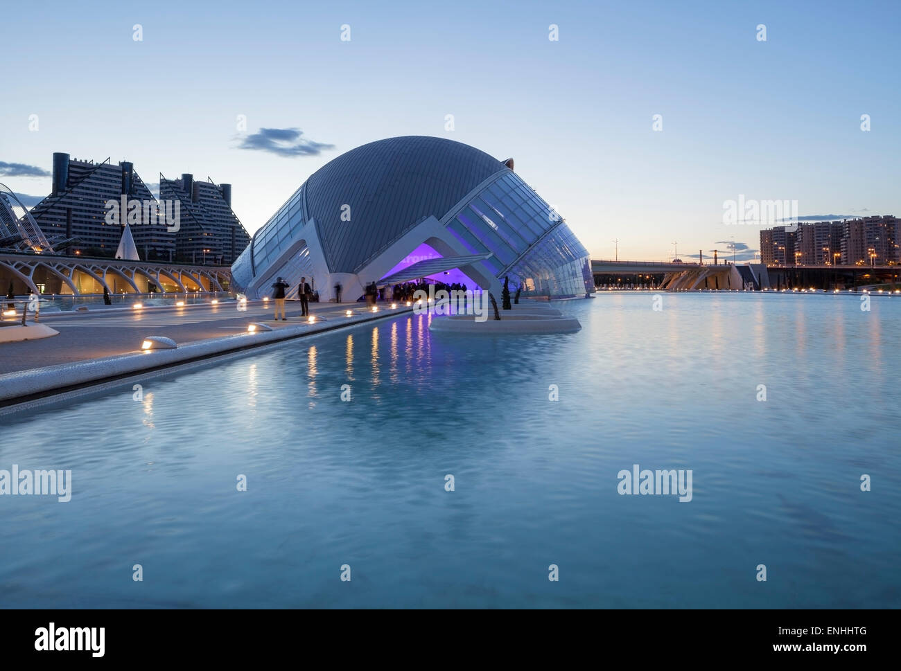
{"label": "dark stepped high-rise nearest the left side of the domed building", "polygon": [[232,212],[230,184],[202,182],[189,173],[183,173],[180,179],[160,175],[159,199],[180,203],[181,221],[176,236],[178,261],[231,264],[250,242],[250,234]]}

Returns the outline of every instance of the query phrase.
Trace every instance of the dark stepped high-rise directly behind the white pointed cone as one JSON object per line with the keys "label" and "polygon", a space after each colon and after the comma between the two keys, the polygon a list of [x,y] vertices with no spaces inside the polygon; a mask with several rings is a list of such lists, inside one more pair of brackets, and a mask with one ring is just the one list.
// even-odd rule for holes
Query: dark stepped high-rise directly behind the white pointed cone
{"label": "dark stepped high-rise directly behind the white pointed cone", "polygon": [[[68,254],[112,258],[123,229],[120,224],[106,222],[110,201],[128,201],[156,206],[156,199],[132,163],[110,159],[71,159],[68,154],[53,154],[53,185],[50,195],[32,210],[35,222],[48,235],[75,238]],[[120,220],[121,221],[121,220]],[[143,223],[131,227],[134,244],[144,260],[172,260],[175,233],[165,223]]]}

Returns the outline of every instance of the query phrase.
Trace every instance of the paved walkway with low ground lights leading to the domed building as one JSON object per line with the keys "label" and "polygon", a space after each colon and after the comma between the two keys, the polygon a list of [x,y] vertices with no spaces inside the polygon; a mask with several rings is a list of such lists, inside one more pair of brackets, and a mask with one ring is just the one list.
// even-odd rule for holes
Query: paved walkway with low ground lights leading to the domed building
{"label": "paved walkway with low ground lights leading to the domed building", "polygon": [[[384,307],[379,305],[380,309]],[[361,313],[367,307],[363,303],[310,304],[310,314],[326,320],[343,317],[347,310]],[[300,303],[296,301],[286,304],[287,322],[273,321],[274,312],[273,301],[250,302],[246,312],[238,312],[234,301],[223,301],[217,305],[153,307],[140,311],[97,308],[87,313],[42,313],[40,322],[59,331],[59,335],[0,344],[0,375],[133,352],[141,349],[141,341],[152,335],[184,344],[241,333],[247,331],[250,322],[264,322],[278,329],[307,321],[300,316]]]}

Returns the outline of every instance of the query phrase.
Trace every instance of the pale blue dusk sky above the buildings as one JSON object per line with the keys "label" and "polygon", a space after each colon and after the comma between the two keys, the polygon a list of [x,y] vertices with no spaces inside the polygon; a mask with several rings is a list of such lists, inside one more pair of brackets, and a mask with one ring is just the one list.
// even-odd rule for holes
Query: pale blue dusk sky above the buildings
{"label": "pale blue dusk sky above the buildings", "polygon": [[[127,159],[147,182],[232,183],[253,231],[343,151],[423,134],[513,156],[595,258],[614,238],[620,258],[757,249],[758,227],[722,222],[740,194],[901,214],[897,1],[126,5],[5,6],[0,182],[47,195],[3,165]],[[240,149],[260,128],[333,149]]]}

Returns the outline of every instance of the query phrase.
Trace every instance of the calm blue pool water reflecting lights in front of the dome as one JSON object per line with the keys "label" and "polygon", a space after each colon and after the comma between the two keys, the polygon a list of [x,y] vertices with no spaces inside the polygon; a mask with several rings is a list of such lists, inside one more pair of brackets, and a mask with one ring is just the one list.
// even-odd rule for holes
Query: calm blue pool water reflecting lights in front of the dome
{"label": "calm blue pool water reflecting lights in front of the dome", "polygon": [[[901,604],[901,296],[651,301],[556,304],[565,336],[403,316],[7,416],[0,468],[74,495],[0,496],[0,605]],[[693,500],[617,494],[633,464]]]}

